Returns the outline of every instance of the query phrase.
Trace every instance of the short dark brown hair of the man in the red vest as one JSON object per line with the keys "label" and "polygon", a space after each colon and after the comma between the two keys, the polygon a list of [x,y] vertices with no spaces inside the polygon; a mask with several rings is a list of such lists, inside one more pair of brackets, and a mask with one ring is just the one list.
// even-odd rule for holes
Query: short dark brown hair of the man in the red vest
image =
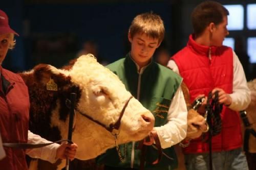
{"label": "short dark brown hair of the man in the red vest", "polygon": [[210,22],[219,25],[227,15],[229,15],[228,10],[220,3],[205,1],[199,4],[191,14],[195,35],[200,35]]}

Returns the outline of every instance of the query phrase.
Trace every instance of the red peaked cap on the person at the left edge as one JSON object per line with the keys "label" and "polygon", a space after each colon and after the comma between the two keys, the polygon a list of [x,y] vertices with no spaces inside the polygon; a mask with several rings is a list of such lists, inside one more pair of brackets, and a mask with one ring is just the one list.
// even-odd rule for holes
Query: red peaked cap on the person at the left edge
{"label": "red peaked cap on the person at the left edge", "polygon": [[9,26],[8,16],[2,10],[0,10],[0,34],[9,34],[13,33],[18,36],[18,34],[13,31]]}

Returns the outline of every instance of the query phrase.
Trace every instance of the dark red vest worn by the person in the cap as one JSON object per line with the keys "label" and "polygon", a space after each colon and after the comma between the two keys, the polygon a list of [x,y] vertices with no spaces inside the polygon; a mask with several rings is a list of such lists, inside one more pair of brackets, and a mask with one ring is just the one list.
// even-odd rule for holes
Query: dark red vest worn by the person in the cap
{"label": "dark red vest worn by the person in the cap", "polygon": [[[3,142],[27,143],[29,94],[20,76],[0,66],[0,132]],[[0,160],[0,169],[28,169],[25,150],[4,147],[6,157]]]}

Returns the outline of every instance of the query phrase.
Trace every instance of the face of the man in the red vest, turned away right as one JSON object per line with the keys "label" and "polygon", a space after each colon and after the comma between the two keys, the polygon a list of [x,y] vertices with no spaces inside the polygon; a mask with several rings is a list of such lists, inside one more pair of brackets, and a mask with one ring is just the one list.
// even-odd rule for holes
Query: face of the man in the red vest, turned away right
{"label": "face of the man in the red vest, turned away right", "polygon": [[223,21],[214,27],[212,31],[211,45],[222,46],[224,38],[228,35],[227,16],[223,17]]}

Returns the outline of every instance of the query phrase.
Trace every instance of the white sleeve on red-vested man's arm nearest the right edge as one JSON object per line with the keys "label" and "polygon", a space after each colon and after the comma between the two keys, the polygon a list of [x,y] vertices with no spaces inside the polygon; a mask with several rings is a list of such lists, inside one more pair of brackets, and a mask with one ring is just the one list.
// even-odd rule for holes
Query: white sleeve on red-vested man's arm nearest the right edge
{"label": "white sleeve on red-vested man's arm nearest the right edge", "polygon": [[250,90],[247,86],[244,69],[236,53],[233,52],[233,92],[230,94],[230,109],[240,111],[250,104]]}

